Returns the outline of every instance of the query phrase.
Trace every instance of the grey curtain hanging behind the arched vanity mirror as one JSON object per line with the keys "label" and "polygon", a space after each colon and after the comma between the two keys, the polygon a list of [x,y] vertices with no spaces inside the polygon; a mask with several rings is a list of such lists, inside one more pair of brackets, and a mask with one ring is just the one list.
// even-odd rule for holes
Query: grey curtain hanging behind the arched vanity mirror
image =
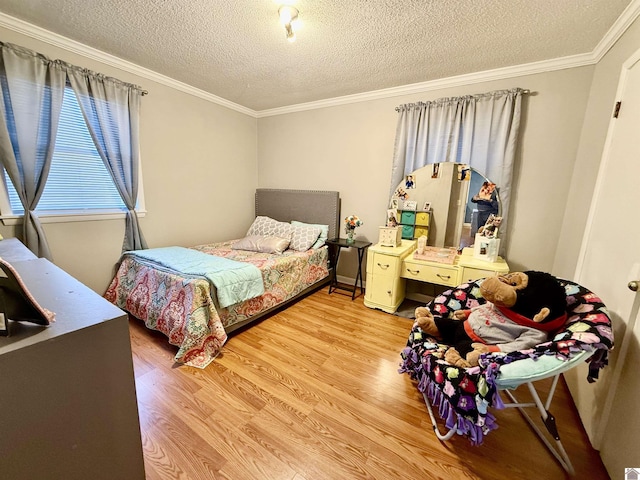
{"label": "grey curtain hanging behind the arched vanity mirror", "polygon": [[[389,196],[414,170],[433,163],[465,163],[495,182],[506,231],[522,95],[513,88],[400,105]],[[501,237],[504,237],[501,234]],[[505,242],[501,242],[501,249]]]}

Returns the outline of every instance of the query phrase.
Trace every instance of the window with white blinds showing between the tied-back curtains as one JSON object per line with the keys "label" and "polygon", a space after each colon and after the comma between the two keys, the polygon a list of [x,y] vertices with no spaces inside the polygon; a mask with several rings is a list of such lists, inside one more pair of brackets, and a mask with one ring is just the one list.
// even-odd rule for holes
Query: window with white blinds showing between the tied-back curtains
{"label": "window with white blinds showing between the tied-back curtains", "polygon": [[[6,170],[0,182],[3,218],[24,213]],[[141,198],[142,191],[140,189]],[[139,202],[140,203],[140,202]],[[138,205],[140,206],[140,205]],[[126,211],[86,126],[73,89],[65,88],[51,168],[36,212],[39,215],[91,215]]]}

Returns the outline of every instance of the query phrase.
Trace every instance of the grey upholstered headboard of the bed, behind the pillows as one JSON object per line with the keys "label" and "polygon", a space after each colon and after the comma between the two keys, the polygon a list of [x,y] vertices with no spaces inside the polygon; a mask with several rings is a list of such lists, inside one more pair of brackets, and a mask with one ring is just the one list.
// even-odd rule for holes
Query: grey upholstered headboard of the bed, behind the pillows
{"label": "grey upholstered headboard of the bed, behind the pillows", "polygon": [[324,190],[258,188],[256,216],[258,215],[280,222],[298,220],[329,225],[329,238],[335,238],[340,233],[340,194]]}

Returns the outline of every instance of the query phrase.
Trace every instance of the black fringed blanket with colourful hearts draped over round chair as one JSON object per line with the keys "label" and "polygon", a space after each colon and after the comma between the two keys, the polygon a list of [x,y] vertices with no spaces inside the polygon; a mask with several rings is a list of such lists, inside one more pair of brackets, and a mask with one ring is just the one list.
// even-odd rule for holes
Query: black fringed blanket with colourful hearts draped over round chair
{"label": "black fringed blanket with colourful hearts draped over round chair", "polygon": [[[436,297],[429,307],[434,315],[452,316],[455,310],[470,309],[484,303],[480,283],[466,283]],[[587,360],[587,380],[595,381],[607,364],[607,352],[613,348],[611,320],[605,305],[597,295],[575,283],[561,281],[567,293],[568,319],[564,329],[551,341],[532,349],[513,353],[484,354],[480,365],[458,368],[444,360],[447,345],[427,336],[414,324],[407,347],[402,351],[400,373],[407,373],[418,382],[445,420],[447,428],[455,428],[474,445],[481,444],[484,435],[497,428],[490,408],[504,408],[496,379],[500,366],[524,358],[537,359],[554,355],[568,360],[582,351],[594,352]]]}

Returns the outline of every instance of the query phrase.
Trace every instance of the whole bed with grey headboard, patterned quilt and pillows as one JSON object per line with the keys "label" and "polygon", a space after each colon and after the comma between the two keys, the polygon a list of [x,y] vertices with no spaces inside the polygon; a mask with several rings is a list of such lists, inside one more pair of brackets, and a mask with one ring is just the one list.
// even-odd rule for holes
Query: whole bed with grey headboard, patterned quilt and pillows
{"label": "whole bed with grey headboard, patterned quilt and pillows", "polygon": [[[165,334],[178,347],[176,362],[205,368],[230,333],[330,280],[328,247],[322,243],[338,236],[338,192],[258,189],[255,216],[244,239],[126,252],[105,298],[147,328]],[[270,234],[283,237],[273,227],[286,229],[285,224],[294,224],[296,232],[309,233],[309,238],[317,226],[326,228],[320,228],[312,248],[293,250],[292,242],[287,244],[291,248],[283,250],[281,242],[272,241],[279,237]],[[249,240],[249,249],[238,249],[241,240],[245,244]],[[308,238],[303,240],[296,248],[306,246]],[[205,264],[213,270],[205,271]],[[233,271],[225,273],[228,268]],[[218,270],[224,279],[217,276]],[[255,291],[256,275],[260,292]],[[245,286],[247,278],[250,287]]]}

